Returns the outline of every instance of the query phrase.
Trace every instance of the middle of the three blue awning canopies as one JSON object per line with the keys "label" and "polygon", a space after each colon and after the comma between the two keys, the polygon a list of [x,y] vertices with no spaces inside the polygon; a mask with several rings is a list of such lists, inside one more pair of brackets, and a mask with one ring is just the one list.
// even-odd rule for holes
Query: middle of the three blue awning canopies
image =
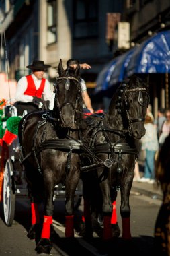
{"label": "middle of the three blue awning canopies", "polygon": [[118,61],[116,61],[116,67],[112,71],[108,87],[124,80],[124,77],[126,77],[126,68],[129,65],[132,53],[134,53],[134,49],[131,49],[130,51],[118,57]]}

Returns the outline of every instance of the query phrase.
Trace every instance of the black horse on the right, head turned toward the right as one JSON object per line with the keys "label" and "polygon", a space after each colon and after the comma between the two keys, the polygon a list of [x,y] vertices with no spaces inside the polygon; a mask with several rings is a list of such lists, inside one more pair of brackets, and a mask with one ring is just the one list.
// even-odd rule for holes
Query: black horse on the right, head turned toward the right
{"label": "black horse on the right, head turned toward the right", "polygon": [[108,113],[102,117],[89,117],[83,143],[91,156],[84,154],[81,168],[85,236],[93,234],[91,212],[95,212],[95,217],[96,212],[100,212],[103,216],[103,238],[112,238],[113,228],[116,228],[112,210],[120,189],[122,237],[131,238],[129,196],[140,139],[145,134],[148,103],[147,79],[134,75],[116,90]]}

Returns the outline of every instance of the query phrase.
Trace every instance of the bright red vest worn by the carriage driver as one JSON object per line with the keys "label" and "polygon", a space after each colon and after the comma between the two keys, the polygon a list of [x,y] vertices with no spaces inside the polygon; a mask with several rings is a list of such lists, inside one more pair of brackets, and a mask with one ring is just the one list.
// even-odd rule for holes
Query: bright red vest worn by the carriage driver
{"label": "bright red vest worn by the carriage driver", "polygon": [[26,91],[24,92],[24,95],[30,95],[30,96],[41,98],[46,79],[42,78],[42,82],[38,90],[36,90],[36,86],[34,84],[34,80],[32,79],[32,75],[26,75],[26,79],[27,79],[27,88],[26,88]]}

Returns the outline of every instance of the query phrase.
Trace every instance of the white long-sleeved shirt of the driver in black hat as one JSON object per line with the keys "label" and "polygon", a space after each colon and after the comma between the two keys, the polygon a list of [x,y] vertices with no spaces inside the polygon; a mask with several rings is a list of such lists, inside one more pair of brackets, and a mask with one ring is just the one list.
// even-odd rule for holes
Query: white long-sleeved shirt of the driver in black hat
{"label": "white long-sleeved shirt of the driver in black hat", "polygon": [[[34,80],[36,90],[38,90],[38,88],[40,88],[40,84],[42,82],[42,79],[37,79],[34,74],[32,74],[32,79]],[[24,102],[24,103],[32,102],[33,96],[24,95],[24,92],[27,89],[27,85],[28,85],[28,82],[27,82],[26,76],[19,79],[19,81],[17,82],[17,90],[16,90],[16,93],[15,93],[15,100],[16,101],[21,101],[21,102]],[[53,95],[52,95],[52,91],[50,90],[50,82],[47,79],[46,79],[45,84],[44,84],[44,90],[42,92],[42,98],[45,101],[46,100],[50,101],[49,108],[52,110],[52,107],[54,106],[54,98],[53,98]]]}

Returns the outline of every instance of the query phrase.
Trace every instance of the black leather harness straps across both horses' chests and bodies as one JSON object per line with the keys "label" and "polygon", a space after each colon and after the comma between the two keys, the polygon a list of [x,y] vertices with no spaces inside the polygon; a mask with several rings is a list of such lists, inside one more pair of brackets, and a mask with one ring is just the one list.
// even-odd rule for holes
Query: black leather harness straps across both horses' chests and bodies
{"label": "black leather harness straps across both horses' chests and bodies", "polygon": [[[44,114],[43,114],[44,115]],[[45,114],[46,117],[49,117],[49,112]],[[104,115],[103,115],[104,117]],[[76,153],[80,154],[81,158],[83,158],[82,154],[87,155],[94,164],[90,164],[88,166],[81,166],[81,172],[87,172],[90,170],[94,170],[96,168],[101,168],[103,166],[110,168],[113,164],[113,158],[114,154],[118,154],[118,172],[122,172],[122,169],[120,168],[120,162],[122,159],[122,154],[135,154],[136,158],[138,156],[138,149],[137,148],[131,148],[128,143],[122,143],[121,140],[118,140],[114,143],[112,143],[107,135],[108,132],[110,133],[118,133],[120,137],[124,138],[125,133],[127,133],[127,130],[117,130],[117,129],[108,129],[107,127],[103,126],[103,117],[101,117],[101,120],[97,122],[95,127],[93,127],[93,136],[91,137],[91,141],[89,143],[89,146],[85,146],[83,136],[81,134],[81,140],[76,140],[74,138],[69,137],[69,135],[65,139],[47,139],[42,141],[38,145],[36,145],[36,137],[38,130],[40,127],[44,127],[48,121],[51,121],[51,118],[46,118],[46,120],[39,121],[36,127],[36,132],[34,133],[34,139],[32,144],[32,151],[28,153],[24,158],[22,158],[22,162],[24,162],[27,158],[30,156],[34,156],[36,160],[36,164],[38,166],[38,171],[41,173],[40,165],[38,163],[37,155],[42,150],[46,149],[54,149],[54,150],[60,150],[62,152],[67,152],[67,169],[70,167],[71,162],[71,154]],[[53,121],[53,120],[52,120]],[[93,123],[92,123],[93,126]],[[97,144],[94,146],[95,143],[95,137],[98,132],[103,132],[105,135],[105,138],[107,139],[107,143]],[[110,154],[110,159],[105,160],[104,162],[101,161],[100,158],[97,157],[97,154],[99,153],[107,153]]]}

